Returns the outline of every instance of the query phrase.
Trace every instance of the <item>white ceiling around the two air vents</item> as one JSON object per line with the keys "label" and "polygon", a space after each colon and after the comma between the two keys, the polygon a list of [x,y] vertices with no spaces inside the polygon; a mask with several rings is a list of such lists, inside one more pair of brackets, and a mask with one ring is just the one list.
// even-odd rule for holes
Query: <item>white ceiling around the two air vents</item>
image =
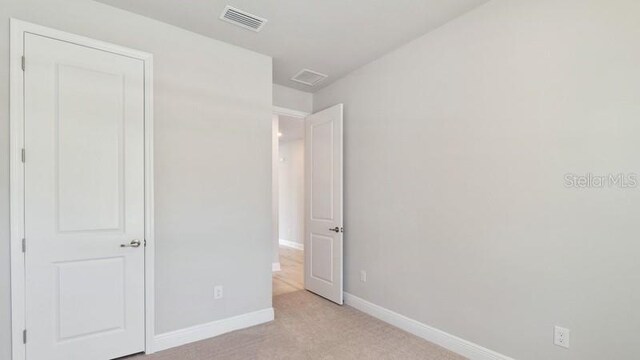
{"label": "white ceiling around the two air vents", "polygon": [[[488,0],[97,0],[273,57],[276,84],[315,92]],[[259,33],[219,20],[226,5],[266,18]],[[308,87],[303,68],[329,75]]]}

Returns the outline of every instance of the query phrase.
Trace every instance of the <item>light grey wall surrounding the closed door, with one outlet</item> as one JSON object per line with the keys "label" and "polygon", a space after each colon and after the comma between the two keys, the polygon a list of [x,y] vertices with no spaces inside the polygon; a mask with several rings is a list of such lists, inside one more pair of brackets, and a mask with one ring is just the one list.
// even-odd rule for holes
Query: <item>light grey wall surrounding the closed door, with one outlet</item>
{"label": "light grey wall surrounding the closed door, with one outlet", "polygon": [[[9,17],[155,56],[156,332],[271,307],[271,59],[93,1],[3,1],[0,358],[10,351]],[[214,284],[225,287],[216,302]]]}

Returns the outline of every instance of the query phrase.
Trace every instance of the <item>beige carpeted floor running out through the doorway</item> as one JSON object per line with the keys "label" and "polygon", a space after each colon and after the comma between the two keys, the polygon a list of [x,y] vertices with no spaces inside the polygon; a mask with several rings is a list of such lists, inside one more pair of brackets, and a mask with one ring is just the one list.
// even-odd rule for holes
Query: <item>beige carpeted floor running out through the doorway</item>
{"label": "beige carpeted floor running out through the doorway", "polygon": [[462,360],[463,357],[306,290],[302,251],[281,248],[275,321],[127,360]]}

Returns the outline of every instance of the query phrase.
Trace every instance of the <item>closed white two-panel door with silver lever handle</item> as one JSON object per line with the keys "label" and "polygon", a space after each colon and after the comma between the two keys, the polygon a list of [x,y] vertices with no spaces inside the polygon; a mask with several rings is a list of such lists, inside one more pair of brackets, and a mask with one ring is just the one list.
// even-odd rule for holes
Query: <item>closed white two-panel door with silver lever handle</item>
{"label": "closed white two-panel door with silver lever handle", "polygon": [[24,41],[27,359],[141,352],[143,62]]}

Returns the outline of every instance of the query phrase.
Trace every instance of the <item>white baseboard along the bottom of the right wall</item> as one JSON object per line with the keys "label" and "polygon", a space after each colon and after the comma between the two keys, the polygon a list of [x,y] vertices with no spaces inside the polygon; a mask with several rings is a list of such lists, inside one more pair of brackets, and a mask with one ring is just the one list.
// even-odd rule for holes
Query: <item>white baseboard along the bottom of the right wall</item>
{"label": "white baseboard along the bottom of the right wall", "polygon": [[408,333],[440,345],[443,348],[465,356],[470,360],[514,360],[513,358],[499,354],[493,350],[489,350],[442,330],[438,330],[419,321],[410,319],[404,315],[400,315],[346,292],[344,293],[344,302],[363,313],[369,314]]}

